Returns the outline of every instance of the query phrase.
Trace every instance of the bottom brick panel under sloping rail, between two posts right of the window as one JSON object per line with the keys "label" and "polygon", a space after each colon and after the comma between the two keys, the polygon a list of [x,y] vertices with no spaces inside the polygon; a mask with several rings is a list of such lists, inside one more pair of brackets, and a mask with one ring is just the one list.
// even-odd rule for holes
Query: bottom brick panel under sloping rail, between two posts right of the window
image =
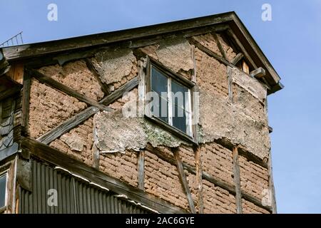
{"label": "bottom brick panel under sloping rail, between two posts right of the window", "polygon": [[205,214],[234,214],[235,197],[227,190],[203,180],[203,203]]}

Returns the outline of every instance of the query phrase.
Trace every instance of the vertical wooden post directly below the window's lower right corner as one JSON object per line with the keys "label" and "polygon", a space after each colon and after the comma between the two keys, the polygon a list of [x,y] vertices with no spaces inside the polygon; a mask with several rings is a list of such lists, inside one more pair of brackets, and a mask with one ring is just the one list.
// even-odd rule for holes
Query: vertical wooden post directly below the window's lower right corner
{"label": "vertical wooden post directly below the window's lower right corner", "polygon": [[198,213],[204,213],[203,204],[203,171],[202,171],[202,161],[200,158],[200,146],[193,148],[195,153],[195,171],[196,171],[196,184],[198,185]]}

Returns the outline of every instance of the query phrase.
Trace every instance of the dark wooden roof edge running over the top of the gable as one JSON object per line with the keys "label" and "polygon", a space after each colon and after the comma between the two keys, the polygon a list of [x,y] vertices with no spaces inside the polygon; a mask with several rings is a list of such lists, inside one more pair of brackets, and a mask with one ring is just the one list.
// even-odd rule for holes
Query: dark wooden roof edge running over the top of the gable
{"label": "dark wooden roof edge running over the top of the gable", "polygon": [[[205,28],[207,27],[207,28]],[[61,58],[49,58],[36,61],[34,65],[44,65],[44,63],[64,63],[70,58],[86,58],[93,55],[93,50],[88,48],[100,48],[103,45],[111,43],[125,43],[128,48],[137,48],[155,43],[157,38],[169,33],[183,33],[184,36],[194,36],[200,32],[201,28],[212,27],[213,30],[228,31],[233,36],[236,43],[241,47],[245,57],[254,68],[263,67],[266,72],[266,81],[270,90],[268,93],[275,93],[283,88],[280,83],[280,76],[277,75],[271,63],[267,60],[263,51],[254,41],[242,21],[234,11],[213,16],[203,16],[197,19],[188,19],[183,21],[173,21],[154,26],[144,26],[140,28],[131,28],[121,31],[108,33],[99,33],[95,35],[80,36],[76,38],[66,38],[60,41],[48,41],[43,43],[34,43],[22,46],[13,46],[3,48],[4,56],[8,61],[19,61],[26,58],[36,59],[39,56],[48,56],[49,54],[59,54],[68,52],[67,56]],[[215,28],[216,27],[216,28]],[[197,32],[193,32],[196,30]],[[91,42],[88,42],[91,41]],[[74,51],[83,50],[81,53]],[[224,57],[224,55],[223,55]]]}

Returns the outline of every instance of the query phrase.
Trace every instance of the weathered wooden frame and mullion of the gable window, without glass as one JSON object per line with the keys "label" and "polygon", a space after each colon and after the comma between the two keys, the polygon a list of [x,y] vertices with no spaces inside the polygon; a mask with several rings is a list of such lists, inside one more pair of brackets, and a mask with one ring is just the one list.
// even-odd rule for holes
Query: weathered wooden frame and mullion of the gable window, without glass
{"label": "weathered wooden frame and mullion of the gable window, without glass", "polygon": [[[171,81],[175,81],[176,83],[180,84],[181,86],[184,86],[188,89],[188,98],[189,98],[189,108],[188,108],[188,126],[190,131],[190,135],[188,133],[184,133],[182,130],[175,128],[173,124],[173,114],[172,114],[172,100],[171,100],[171,93],[168,93],[168,123],[166,123],[164,120],[161,120],[161,118],[158,118],[154,116],[151,113],[151,108],[147,108],[147,113],[145,113],[146,118],[149,120],[152,120],[154,123],[157,123],[158,125],[161,125],[165,130],[168,130],[170,133],[173,133],[174,135],[178,136],[179,138],[183,138],[183,140],[186,140],[188,142],[193,143],[194,145],[197,145],[197,142],[195,140],[196,138],[196,131],[195,131],[195,124],[193,124],[193,113],[194,113],[194,100],[193,100],[193,92],[195,91],[195,83],[193,81],[188,80],[184,76],[179,75],[178,73],[175,73],[171,71],[166,66],[163,66],[162,63],[159,63],[155,59],[153,59],[150,56],[147,56],[147,64],[146,64],[146,92],[145,97],[149,92],[151,92],[151,70],[152,67],[156,68],[158,71],[163,73],[163,75],[168,78],[168,90],[171,92]],[[168,92],[168,91],[167,91]],[[149,101],[151,103],[151,101]],[[186,111],[186,110],[184,110]],[[187,117],[186,117],[187,118]]]}

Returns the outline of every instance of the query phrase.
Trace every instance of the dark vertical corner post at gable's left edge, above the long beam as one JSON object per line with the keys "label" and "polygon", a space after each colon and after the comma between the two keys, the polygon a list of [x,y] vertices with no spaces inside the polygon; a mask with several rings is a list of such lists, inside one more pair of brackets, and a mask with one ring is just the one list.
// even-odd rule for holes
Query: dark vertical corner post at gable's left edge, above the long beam
{"label": "dark vertical corner post at gable's left edge, above the long beam", "polygon": [[22,135],[29,135],[29,103],[31,91],[31,76],[29,73],[24,73],[24,86],[22,89]]}

